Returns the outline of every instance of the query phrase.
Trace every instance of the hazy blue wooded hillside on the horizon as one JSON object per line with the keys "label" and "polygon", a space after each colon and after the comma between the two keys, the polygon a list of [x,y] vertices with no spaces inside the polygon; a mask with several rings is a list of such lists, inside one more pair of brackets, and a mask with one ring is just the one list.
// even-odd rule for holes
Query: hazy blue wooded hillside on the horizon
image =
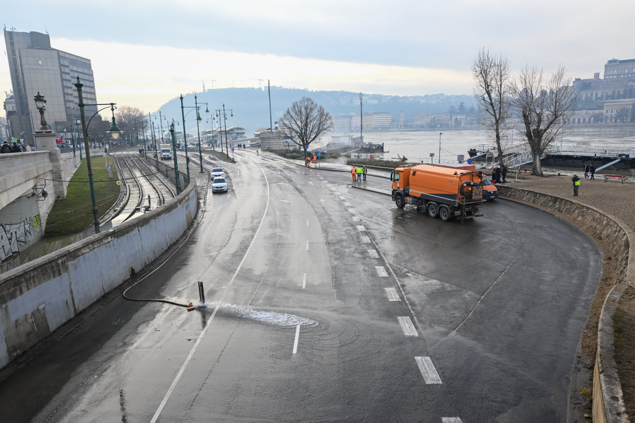
{"label": "hazy blue wooded hillside on the horizon", "polygon": [[[211,127],[206,123],[206,117],[211,117],[213,110],[222,108],[232,109],[234,117],[227,120],[227,126],[242,126],[246,129],[246,136],[253,136],[253,131],[259,127],[269,127],[269,98],[267,89],[264,88],[222,88],[208,89],[205,93],[184,94],[184,105],[194,106],[194,94],[199,103],[209,103],[210,114],[204,113],[205,106],[201,109],[201,130]],[[295,100],[303,96],[311,97],[319,105],[323,105],[332,114],[359,114],[359,93],[350,91],[309,91],[307,89],[271,87],[271,114],[275,122],[277,117],[283,114]],[[428,113],[441,113],[450,106],[458,107],[463,102],[465,108],[476,107],[471,95],[445,95],[426,94],[425,96],[385,96],[382,94],[364,93],[364,113],[389,112],[392,120],[399,120],[399,114],[404,112],[404,119],[413,119],[415,116]],[[188,110],[185,109],[185,113]],[[181,120],[181,103],[178,98],[168,101],[161,107],[161,112],[168,119]],[[227,117],[230,113],[227,112]],[[196,133],[196,115],[191,112],[186,118],[187,131]]]}

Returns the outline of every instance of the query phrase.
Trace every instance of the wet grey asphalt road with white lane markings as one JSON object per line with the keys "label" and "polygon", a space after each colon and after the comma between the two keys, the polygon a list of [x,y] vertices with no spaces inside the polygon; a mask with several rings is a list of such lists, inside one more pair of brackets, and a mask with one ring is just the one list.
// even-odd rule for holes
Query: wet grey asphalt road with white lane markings
{"label": "wet grey asphalt road with white lane markings", "polygon": [[196,303],[202,281],[207,308],[112,296],[0,382],[6,421],[565,421],[601,270],[584,234],[502,200],[444,223],[349,174],[236,158],[130,292]]}

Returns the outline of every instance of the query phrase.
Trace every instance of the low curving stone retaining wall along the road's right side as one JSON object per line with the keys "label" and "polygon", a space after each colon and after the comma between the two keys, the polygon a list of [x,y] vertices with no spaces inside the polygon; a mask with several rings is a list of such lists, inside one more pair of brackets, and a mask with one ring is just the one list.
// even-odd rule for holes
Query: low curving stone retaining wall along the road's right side
{"label": "low curving stone retaining wall along the road's right side", "polygon": [[617,375],[613,346],[613,315],[622,292],[635,283],[635,270],[631,256],[630,239],[633,233],[626,225],[620,225],[594,207],[579,204],[555,195],[542,194],[511,186],[498,186],[500,197],[535,204],[543,209],[558,212],[580,222],[592,237],[606,240],[616,260],[616,285],[606,296],[598,323],[598,350],[593,370],[593,421],[595,423],[629,422],[624,406],[622,385]]}

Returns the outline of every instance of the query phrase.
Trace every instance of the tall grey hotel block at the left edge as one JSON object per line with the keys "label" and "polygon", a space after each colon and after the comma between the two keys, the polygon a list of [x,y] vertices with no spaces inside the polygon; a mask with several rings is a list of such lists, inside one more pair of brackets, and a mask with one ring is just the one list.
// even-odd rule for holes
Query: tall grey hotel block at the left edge
{"label": "tall grey hotel block at the left edge", "polygon": [[[32,143],[32,133],[39,128],[39,112],[33,96],[38,92],[46,98],[46,121],[54,133],[70,137],[72,119],[79,115],[76,77],[84,84],[82,89],[87,119],[97,112],[95,78],[87,58],[72,55],[51,47],[48,34],[4,30],[6,55],[13,86],[15,115],[6,109],[11,136]],[[21,137],[20,134],[23,134]]]}

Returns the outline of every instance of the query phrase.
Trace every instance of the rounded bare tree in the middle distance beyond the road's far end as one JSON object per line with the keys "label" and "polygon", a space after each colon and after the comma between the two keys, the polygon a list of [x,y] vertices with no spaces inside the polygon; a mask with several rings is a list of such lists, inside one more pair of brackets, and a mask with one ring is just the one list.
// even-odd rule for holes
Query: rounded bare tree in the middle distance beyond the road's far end
{"label": "rounded bare tree in the middle distance beyond the road's far end", "polygon": [[333,129],[331,115],[309,97],[293,101],[278,119],[278,124],[287,138],[304,148],[305,155],[308,155],[307,146],[321,134]]}

